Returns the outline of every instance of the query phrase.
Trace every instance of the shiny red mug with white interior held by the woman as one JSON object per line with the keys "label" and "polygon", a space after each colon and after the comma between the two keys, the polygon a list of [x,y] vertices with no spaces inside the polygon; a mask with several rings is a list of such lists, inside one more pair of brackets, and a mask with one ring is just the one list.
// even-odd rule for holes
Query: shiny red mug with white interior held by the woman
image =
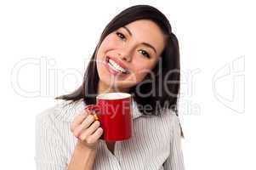
{"label": "shiny red mug with white interior held by the woman", "polygon": [[86,105],[99,117],[104,133],[100,139],[117,141],[132,136],[132,98],[126,93],[107,93],[96,97],[96,105]]}

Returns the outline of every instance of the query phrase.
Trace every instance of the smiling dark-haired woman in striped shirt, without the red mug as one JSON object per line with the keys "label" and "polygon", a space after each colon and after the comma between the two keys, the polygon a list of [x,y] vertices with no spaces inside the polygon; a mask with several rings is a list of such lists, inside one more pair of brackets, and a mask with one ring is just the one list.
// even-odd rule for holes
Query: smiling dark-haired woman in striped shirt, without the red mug
{"label": "smiling dark-haired woman in striped shirt, without the red mug", "polygon": [[[133,96],[131,139],[101,140],[100,122],[83,110],[109,92]],[[148,5],[125,9],[105,27],[82,86],[37,116],[37,169],[184,169],[178,96],[179,45],[168,19]]]}

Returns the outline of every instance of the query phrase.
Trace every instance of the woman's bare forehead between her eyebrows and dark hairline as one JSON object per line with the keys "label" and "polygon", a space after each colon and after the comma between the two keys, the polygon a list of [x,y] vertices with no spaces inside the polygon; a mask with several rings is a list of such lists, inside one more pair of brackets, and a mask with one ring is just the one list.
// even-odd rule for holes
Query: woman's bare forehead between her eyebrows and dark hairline
{"label": "woman's bare forehead between her eyebrows and dark hairline", "polygon": [[135,20],[126,27],[132,32],[134,40],[137,42],[148,42],[157,51],[164,47],[165,36],[159,26],[151,20]]}

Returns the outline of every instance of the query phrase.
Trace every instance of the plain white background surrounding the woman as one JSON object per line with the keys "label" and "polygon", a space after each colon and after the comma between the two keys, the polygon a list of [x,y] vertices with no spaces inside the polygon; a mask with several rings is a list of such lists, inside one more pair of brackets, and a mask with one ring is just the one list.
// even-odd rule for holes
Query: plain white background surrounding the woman
{"label": "plain white background surrounding the woman", "polygon": [[35,169],[35,116],[80,85],[106,24],[141,3],[166,14],[179,38],[186,169],[256,168],[253,3],[88,2],[1,1],[1,169]]}

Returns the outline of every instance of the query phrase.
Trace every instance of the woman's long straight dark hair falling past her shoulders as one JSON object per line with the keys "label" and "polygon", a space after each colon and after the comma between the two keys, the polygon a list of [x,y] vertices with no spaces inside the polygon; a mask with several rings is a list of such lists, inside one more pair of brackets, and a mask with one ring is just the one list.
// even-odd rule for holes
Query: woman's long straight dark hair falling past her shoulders
{"label": "woman's long straight dark hair falling past her shoulders", "polygon": [[[129,94],[132,94],[134,100],[139,107],[139,111],[143,115],[160,115],[162,110],[170,109],[178,116],[178,99],[180,87],[180,66],[179,66],[179,42],[177,37],[172,32],[172,27],[167,17],[162,14],[158,9],[150,5],[135,5],[123,10],[117,14],[110,23],[105,26],[104,31],[100,36],[100,41],[94,49],[94,54],[91,57],[88,67],[85,71],[82,85],[71,94],[65,94],[55,99],[65,99],[77,101],[83,99],[86,105],[95,104],[96,98],[94,94],[98,94],[99,74],[96,67],[97,50],[101,42],[111,32],[116,31],[118,28],[128,25],[135,20],[152,20],[159,26],[163,34],[167,37],[166,46],[162,51],[161,58],[152,70],[155,77],[147,75],[145,80],[139,82],[136,86],[129,89]],[[171,71],[172,74],[169,74]],[[161,77],[165,77],[168,82],[174,83],[159,83]],[[168,78],[166,78],[168,77]],[[149,80],[156,80],[156,84],[146,83]],[[141,94],[149,94],[143,97]],[[151,105],[152,111],[150,114],[143,108],[145,105]],[[183,136],[182,130],[181,135]]]}

